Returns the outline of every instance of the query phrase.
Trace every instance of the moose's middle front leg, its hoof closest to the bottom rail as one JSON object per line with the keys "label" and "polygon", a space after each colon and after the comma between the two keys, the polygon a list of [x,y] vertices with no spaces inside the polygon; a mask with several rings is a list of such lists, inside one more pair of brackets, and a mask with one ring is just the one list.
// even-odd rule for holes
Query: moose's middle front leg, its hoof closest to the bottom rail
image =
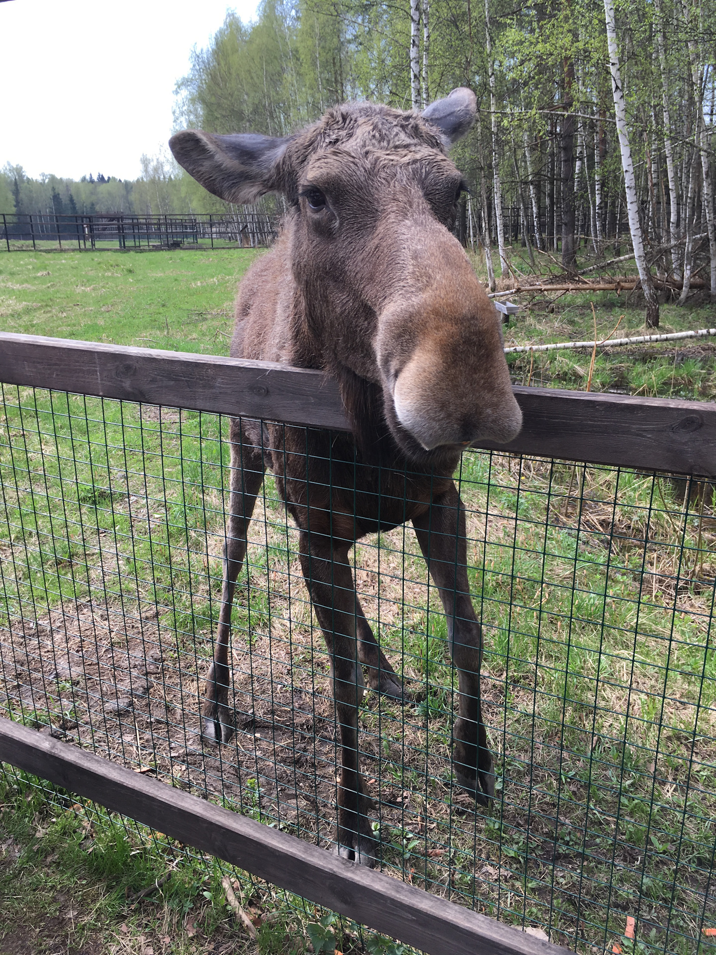
{"label": "moose's middle front leg, its hoof closest to the bottom rail", "polygon": [[358,708],[364,693],[356,641],[356,622],[361,611],[347,562],[347,544],[336,545],[325,535],[302,531],[300,551],[311,603],[330,654],[340,734],[337,852],[343,859],[372,868],[376,859],[376,842],[368,816],[372,802],[361,775],[358,750]]}

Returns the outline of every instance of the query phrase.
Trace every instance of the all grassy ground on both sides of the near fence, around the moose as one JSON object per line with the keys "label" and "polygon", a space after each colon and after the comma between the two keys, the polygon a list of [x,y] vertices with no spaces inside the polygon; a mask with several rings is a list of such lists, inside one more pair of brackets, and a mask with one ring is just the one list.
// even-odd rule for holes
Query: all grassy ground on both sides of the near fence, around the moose
{"label": "all grassy ground on both sides of the near fence, around the moose", "polygon": [[[233,286],[252,254],[0,257],[0,327],[225,353]],[[52,278],[53,287],[39,281]],[[598,305],[600,333],[622,312],[620,333],[639,328],[641,311],[620,311],[616,296]],[[506,337],[591,337],[587,302],[575,296],[560,308],[535,306]],[[713,324],[705,308],[673,315],[664,308],[667,320],[677,329]],[[710,396],[710,353],[687,374],[671,355],[670,378],[654,374],[649,391],[643,377],[658,361],[643,352],[619,358],[628,389]],[[541,366],[544,383],[574,386],[574,368],[565,380],[557,364]],[[640,366],[642,379],[632,377]],[[613,368],[601,371],[600,386],[610,387]],[[228,451],[221,422],[23,389],[6,389],[5,397],[0,710],[305,838],[331,838],[326,652],[272,479],[235,607],[238,732],[220,759],[202,750],[197,729],[221,583]],[[494,810],[474,812],[451,788],[455,679],[445,621],[412,534],[371,538],[355,550],[357,587],[415,700],[401,711],[369,694],[361,714],[384,867],[505,921],[545,927],[553,941],[577,940],[580,951],[610,951],[633,915],[642,950],[686,955],[702,920],[716,919],[708,897],[716,815],[709,489],[486,453],[464,456],[458,479],[485,627],[498,800]],[[49,955],[59,938],[72,938],[76,950],[87,939],[97,951],[189,951],[199,938],[201,950],[242,950],[245,936],[227,914],[213,863],[174,847],[178,874],[169,888],[128,903],[125,888],[136,893],[166,871],[161,839],[150,849],[147,833],[97,818],[88,844],[87,807],[66,803],[59,812],[57,798],[43,801],[12,779],[5,787],[7,884],[24,886],[2,913],[6,938],[27,899],[32,923],[52,923]],[[97,860],[105,856],[102,870]],[[75,874],[69,888],[68,872]],[[80,875],[87,903],[75,891]],[[246,942],[246,951],[298,951],[309,939],[321,949],[324,930],[326,945],[335,941],[333,926],[317,916],[299,918],[287,902],[277,908],[269,888],[242,882],[241,891],[246,907],[279,913],[263,920],[262,938]],[[67,900],[82,913],[81,929],[61,921]],[[192,913],[200,936],[187,933]],[[24,950],[12,944],[12,955]],[[340,944],[360,950],[349,937]],[[379,940],[370,945],[390,951]]]}

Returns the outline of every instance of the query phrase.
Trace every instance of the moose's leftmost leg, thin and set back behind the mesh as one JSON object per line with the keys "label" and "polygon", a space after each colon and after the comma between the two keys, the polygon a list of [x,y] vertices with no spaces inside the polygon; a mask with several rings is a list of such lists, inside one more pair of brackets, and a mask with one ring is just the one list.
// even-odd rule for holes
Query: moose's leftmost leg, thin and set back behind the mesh
{"label": "moose's leftmost leg, thin and set back behind the mesh", "polygon": [[263,483],[265,461],[263,448],[242,430],[241,421],[231,419],[231,477],[229,479],[229,520],[223,545],[223,583],[219,630],[214,647],[214,662],[206,674],[201,734],[212,743],[228,743],[234,732],[229,711],[229,645],[231,641],[231,608],[236,581],[246,556],[246,534],[257,495]]}

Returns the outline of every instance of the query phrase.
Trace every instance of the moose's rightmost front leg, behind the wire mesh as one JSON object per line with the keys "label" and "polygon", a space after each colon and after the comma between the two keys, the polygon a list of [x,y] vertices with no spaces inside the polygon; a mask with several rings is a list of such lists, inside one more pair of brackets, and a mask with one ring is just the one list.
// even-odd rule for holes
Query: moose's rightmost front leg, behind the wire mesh
{"label": "moose's rightmost front leg, behind the wire mesh", "polygon": [[453,726],[455,778],[477,802],[487,806],[495,796],[495,770],[480,706],[482,630],[468,584],[465,510],[454,484],[412,523],[445,610],[453,664],[458,671],[459,707]]}

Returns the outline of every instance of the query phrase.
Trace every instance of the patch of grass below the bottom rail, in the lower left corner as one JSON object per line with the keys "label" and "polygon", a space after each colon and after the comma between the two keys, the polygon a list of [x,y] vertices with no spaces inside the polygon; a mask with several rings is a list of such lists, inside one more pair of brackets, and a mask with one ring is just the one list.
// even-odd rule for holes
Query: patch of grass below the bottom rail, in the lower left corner
{"label": "patch of grass below the bottom rail, in the lower left corner", "polygon": [[[338,946],[408,952],[374,933],[363,934],[362,949],[349,920],[14,771],[0,775],[0,862],[2,955],[302,955],[324,939],[333,943],[331,955]],[[256,941],[226,902],[225,877],[257,927]]]}

